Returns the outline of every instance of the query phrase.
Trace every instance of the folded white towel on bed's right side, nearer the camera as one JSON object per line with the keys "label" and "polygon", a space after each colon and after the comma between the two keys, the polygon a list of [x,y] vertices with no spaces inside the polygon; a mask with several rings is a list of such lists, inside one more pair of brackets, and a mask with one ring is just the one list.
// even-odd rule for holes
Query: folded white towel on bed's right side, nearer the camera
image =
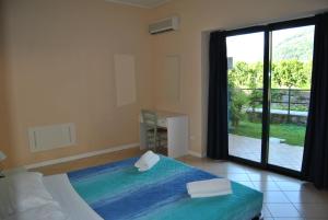
{"label": "folded white towel on bed's right side, nearer the camera", "polygon": [[191,198],[232,194],[231,183],[226,178],[212,178],[187,183],[187,190]]}

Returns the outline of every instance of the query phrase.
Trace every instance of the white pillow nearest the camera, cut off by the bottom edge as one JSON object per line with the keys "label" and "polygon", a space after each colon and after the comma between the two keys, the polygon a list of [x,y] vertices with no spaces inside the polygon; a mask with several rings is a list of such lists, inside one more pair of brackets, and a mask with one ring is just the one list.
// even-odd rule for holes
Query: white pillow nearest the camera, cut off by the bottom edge
{"label": "white pillow nearest the camera, cut off by the bottom edge", "polygon": [[4,220],[68,220],[68,217],[62,213],[59,205],[52,201],[34,209],[17,212]]}

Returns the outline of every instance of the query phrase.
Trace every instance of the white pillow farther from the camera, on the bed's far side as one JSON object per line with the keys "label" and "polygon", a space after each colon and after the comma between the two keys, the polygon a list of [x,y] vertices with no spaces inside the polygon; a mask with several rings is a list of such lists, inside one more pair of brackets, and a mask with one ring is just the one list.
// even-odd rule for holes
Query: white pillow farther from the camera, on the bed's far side
{"label": "white pillow farther from the camera, on the bed's far side", "polygon": [[43,174],[23,172],[9,176],[9,199],[15,212],[47,205],[54,199],[43,183]]}

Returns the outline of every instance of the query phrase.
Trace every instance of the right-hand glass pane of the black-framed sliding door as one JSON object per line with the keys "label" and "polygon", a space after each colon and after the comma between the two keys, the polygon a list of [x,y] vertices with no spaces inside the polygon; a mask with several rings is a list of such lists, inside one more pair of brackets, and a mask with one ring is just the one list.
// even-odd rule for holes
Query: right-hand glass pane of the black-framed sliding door
{"label": "right-hand glass pane of the black-framed sliding door", "polygon": [[269,164],[301,171],[314,25],[272,32]]}

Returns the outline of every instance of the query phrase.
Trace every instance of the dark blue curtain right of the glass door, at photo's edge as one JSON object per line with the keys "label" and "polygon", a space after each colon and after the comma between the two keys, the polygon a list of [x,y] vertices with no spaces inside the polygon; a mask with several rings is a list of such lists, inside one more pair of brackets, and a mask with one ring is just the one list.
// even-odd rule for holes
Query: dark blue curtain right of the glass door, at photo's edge
{"label": "dark blue curtain right of the glass door, at photo's edge", "polygon": [[316,16],[302,176],[318,188],[328,188],[328,13]]}

